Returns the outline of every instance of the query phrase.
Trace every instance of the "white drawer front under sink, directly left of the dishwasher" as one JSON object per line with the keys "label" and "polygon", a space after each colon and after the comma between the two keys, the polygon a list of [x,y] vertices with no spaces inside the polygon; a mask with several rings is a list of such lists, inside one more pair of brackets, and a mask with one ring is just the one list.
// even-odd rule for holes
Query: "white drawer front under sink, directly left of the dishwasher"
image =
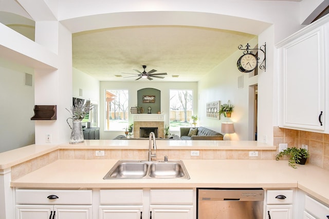
{"label": "white drawer front under sink, directly left of the dishwasher", "polygon": [[193,189],[151,189],[151,205],[192,205]]}

